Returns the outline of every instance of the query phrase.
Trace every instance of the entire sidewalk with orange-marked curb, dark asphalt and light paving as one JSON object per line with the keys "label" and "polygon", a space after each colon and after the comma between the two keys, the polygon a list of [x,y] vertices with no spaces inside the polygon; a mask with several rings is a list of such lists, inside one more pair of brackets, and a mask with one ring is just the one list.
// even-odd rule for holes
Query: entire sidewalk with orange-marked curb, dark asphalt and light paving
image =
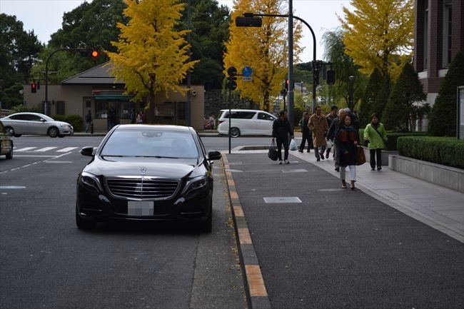
{"label": "entire sidewalk with orange-marked curb, dark asphalt and light paving", "polygon": [[243,148],[223,161],[249,308],[463,304],[463,193],[365,163],[356,188],[367,197],[341,189],[333,159],[313,150],[275,166]]}

